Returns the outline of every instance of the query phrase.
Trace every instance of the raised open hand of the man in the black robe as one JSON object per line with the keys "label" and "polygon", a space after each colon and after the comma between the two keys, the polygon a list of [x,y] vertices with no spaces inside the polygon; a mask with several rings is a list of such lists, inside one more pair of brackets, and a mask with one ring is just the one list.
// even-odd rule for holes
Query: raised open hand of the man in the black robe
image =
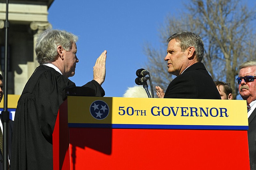
{"label": "raised open hand of the man in the black robe", "polygon": [[97,81],[100,85],[105,81],[106,76],[106,57],[107,50],[104,50],[103,53],[97,58],[96,63],[93,67],[93,80]]}

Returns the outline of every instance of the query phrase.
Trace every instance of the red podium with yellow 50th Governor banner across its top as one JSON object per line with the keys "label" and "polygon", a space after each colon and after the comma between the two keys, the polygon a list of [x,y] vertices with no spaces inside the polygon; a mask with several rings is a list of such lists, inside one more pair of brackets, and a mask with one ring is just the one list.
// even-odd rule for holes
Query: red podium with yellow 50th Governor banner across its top
{"label": "red podium with yellow 50th Governor banner across its top", "polygon": [[54,170],[250,169],[244,100],[68,96]]}

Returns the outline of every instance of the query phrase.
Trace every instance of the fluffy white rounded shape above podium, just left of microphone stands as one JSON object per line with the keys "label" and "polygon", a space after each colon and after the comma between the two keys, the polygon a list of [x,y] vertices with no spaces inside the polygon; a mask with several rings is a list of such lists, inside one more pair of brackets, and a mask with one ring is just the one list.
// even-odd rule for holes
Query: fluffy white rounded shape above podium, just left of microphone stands
{"label": "fluffy white rounded shape above podium, just left of microphone stands", "polygon": [[123,97],[148,98],[148,94],[142,86],[135,85],[133,87],[128,87]]}

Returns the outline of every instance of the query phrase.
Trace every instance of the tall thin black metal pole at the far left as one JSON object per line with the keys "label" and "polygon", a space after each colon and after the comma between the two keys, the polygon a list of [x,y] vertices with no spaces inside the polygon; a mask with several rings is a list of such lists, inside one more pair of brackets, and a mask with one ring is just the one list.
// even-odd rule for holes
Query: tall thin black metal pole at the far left
{"label": "tall thin black metal pole at the far left", "polygon": [[8,21],[8,0],[6,0],[6,19],[4,22],[4,29],[5,29],[5,56],[4,56],[4,111],[2,112],[2,118],[3,118],[3,148],[4,153],[2,153],[4,156],[4,170],[8,170],[8,123],[9,123],[9,111],[7,110],[7,101],[8,101],[8,28],[9,28],[9,21]]}

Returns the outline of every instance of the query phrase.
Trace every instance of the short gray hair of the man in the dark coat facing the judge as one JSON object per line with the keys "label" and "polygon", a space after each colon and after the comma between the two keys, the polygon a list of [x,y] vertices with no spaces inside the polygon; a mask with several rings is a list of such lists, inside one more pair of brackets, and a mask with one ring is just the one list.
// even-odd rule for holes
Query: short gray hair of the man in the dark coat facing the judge
{"label": "short gray hair of the man in the dark coat facing the judge", "polygon": [[196,60],[201,62],[204,57],[204,42],[202,38],[195,33],[189,31],[183,31],[175,33],[167,39],[169,43],[172,39],[175,39],[180,43],[181,51],[184,52],[188,47],[195,47]]}

